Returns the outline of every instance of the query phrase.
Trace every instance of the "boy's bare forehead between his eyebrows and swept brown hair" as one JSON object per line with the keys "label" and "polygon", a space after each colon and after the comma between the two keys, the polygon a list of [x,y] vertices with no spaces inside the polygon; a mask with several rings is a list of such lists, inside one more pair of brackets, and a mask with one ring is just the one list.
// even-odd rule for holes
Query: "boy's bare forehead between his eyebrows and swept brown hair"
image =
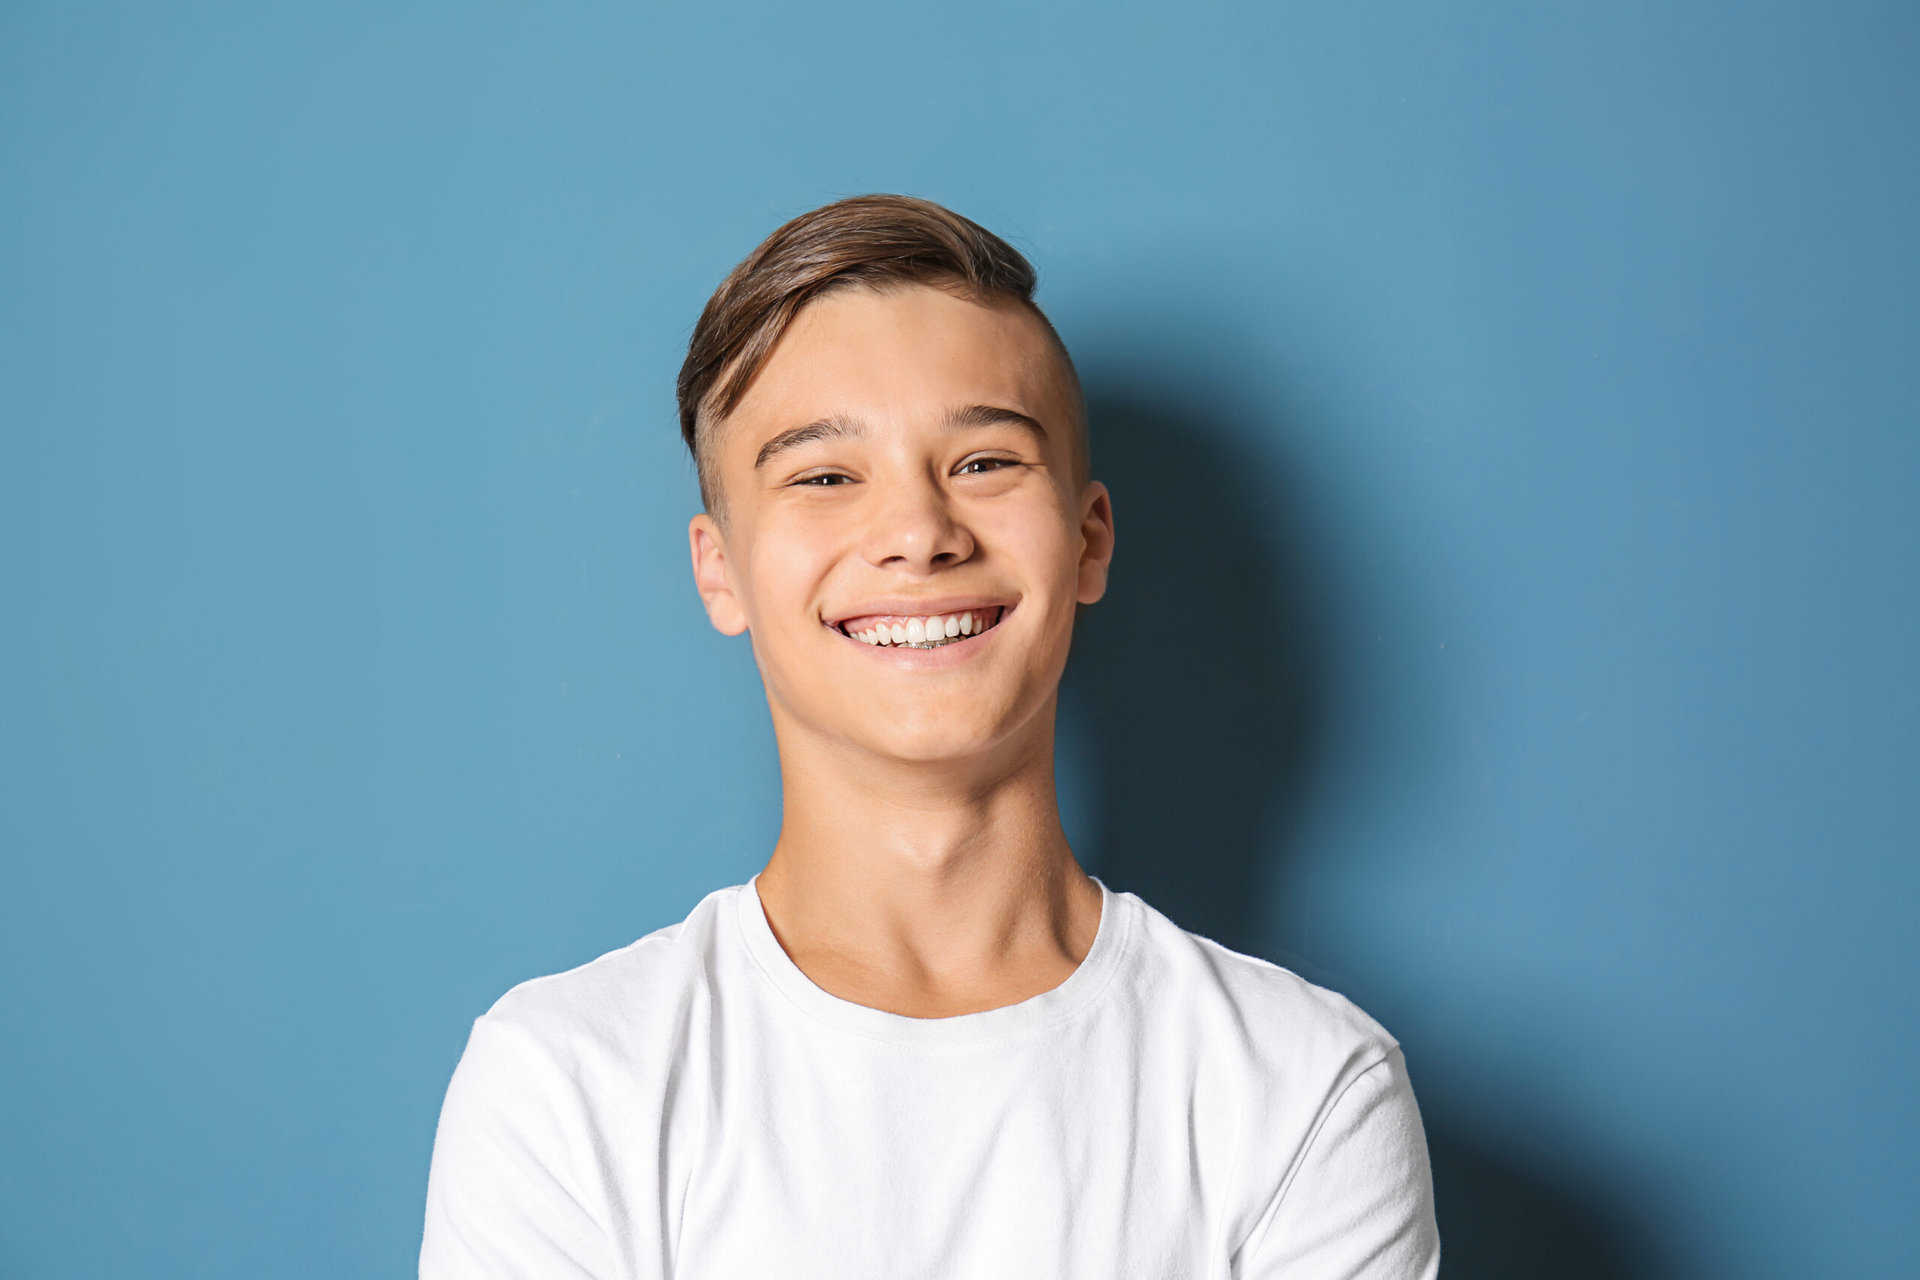
{"label": "boy's bare forehead between his eyebrows and swept brown hair", "polygon": [[1039,317],[937,288],[843,288],[806,305],[733,411],[743,438],[828,413],[912,418],[996,403],[1062,420],[1060,370]]}

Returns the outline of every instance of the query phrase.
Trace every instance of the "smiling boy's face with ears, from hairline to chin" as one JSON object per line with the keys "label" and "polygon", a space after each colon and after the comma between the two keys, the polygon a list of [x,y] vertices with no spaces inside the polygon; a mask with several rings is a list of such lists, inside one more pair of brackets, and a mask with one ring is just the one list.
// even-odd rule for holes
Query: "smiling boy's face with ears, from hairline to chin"
{"label": "smiling boy's face with ears, from hairline to chin", "polygon": [[[783,748],[947,760],[1050,741],[1075,604],[1106,593],[1114,551],[1106,486],[1073,489],[1071,413],[1021,307],[904,286],[801,311],[716,434],[730,528],[687,526],[707,614],[749,631]],[[770,449],[818,422],[847,432]],[[829,626],[972,601],[1000,622],[941,649]]]}

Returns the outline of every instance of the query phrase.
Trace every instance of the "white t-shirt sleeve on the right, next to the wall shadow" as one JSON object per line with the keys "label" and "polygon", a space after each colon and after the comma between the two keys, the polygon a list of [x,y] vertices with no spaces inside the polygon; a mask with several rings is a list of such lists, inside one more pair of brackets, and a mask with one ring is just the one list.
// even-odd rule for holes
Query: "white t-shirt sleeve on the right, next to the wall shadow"
{"label": "white t-shirt sleeve on the right, next to the wall shadow", "polygon": [[1242,1280],[1434,1280],[1427,1130],[1396,1046],[1354,1077],[1242,1245]]}

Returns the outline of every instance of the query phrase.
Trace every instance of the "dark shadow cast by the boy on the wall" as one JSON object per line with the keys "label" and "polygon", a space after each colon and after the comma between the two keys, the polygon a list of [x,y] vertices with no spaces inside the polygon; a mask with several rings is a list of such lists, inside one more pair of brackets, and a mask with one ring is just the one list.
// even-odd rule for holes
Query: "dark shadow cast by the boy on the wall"
{"label": "dark shadow cast by the boy on the wall", "polygon": [[[1292,819],[1315,783],[1325,729],[1340,716],[1327,677],[1344,652],[1338,620],[1315,608],[1313,576],[1290,560],[1308,547],[1300,484],[1284,461],[1254,455],[1236,438],[1246,409],[1217,384],[1108,372],[1142,365],[1152,359],[1081,363],[1094,476],[1114,495],[1116,526],[1108,595],[1075,628],[1062,681],[1062,714],[1081,720],[1091,750],[1098,848],[1087,862],[1181,927],[1338,990],[1309,961],[1256,942],[1256,900],[1275,879],[1260,862],[1267,850],[1313,856]],[[1475,1027],[1453,1034],[1469,1038],[1452,1046],[1455,1061],[1498,1052],[1473,1042]],[[1417,1046],[1409,1050],[1417,1061]],[[1421,1088],[1417,1067],[1413,1080],[1446,1274],[1672,1274],[1653,1232],[1624,1211],[1634,1188],[1605,1186],[1597,1173],[1586,1182],[1569,1176],[1578,1153],[1553,1173],[1523,1167],[1461,1123],[1484,1105],[1450,1105],[1440,1090]]]}

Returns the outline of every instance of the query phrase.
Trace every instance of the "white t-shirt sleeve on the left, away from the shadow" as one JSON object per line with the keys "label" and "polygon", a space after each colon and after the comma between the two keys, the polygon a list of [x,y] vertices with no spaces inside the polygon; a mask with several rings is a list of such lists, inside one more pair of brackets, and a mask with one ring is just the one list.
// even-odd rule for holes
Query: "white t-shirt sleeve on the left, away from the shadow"
{"label": "white t-shirt sleeve on the left, away from the shadow", "polygon": [[420,1280],[612,1274],[578,1084],[520,1027],[474,1021],[434,1132]]}

